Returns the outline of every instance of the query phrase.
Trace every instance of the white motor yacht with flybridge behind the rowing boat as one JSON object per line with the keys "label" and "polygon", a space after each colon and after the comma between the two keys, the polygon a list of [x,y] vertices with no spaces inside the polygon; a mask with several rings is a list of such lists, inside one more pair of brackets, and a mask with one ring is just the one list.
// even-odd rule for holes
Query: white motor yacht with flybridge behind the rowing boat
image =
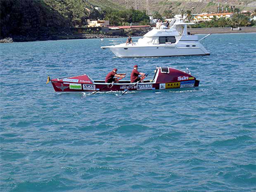
{"label": "white motor yacht with flybridge behind the rowing boat", "polygon": [[112,40],[114,45],[100,48],[110,49],[120,58],[209,55],[210,52],[200,44],[200,40],[208,35],[198,40],[197,35],[188,33],[189,24],[194,23],[182,22],[179,18],[175,18],[170,23],[170,28],[164,25],[159,29],[154,28],[138,42],[126,45],[120,44],[118,40]]}

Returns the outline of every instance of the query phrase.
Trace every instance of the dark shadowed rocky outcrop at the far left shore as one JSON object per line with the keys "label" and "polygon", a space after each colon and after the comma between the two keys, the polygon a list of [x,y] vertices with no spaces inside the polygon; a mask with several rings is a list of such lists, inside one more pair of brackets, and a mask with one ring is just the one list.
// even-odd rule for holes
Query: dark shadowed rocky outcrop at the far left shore
{"label": "dark shadowed rocky outcrop at the far left shore", "polygon": [[70,35],[72,24],[42,0],[1,0],[0,38],[14,42],[54,40]]}

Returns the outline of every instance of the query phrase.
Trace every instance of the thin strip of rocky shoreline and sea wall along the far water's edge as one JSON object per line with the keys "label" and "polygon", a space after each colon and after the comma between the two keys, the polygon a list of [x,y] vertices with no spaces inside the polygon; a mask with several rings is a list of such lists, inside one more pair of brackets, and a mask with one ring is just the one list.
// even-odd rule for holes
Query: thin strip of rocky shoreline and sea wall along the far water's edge
{"label": "thin strip of rocky shoreline and sea wall along the far water's edge", "polygon": [[[132,36],[143,36],[148,31],[136,33]],[[197,34],[232,34],[232,33],[256,33],[256,27],[241,27],[240,30],[231,28],[188,28],[188,32],[192,35]],[[7,37],[0,40],[0,43],[13,43],[13,42],[35,42],[45,40],[72,40],[72,39],[92,39],[92,38],[124,38],[128,35],[103,35],[103,34],[76,34],[76,35],[52,35],[47,38],[29,38],[24,36],[15,36],[13,38]]]}

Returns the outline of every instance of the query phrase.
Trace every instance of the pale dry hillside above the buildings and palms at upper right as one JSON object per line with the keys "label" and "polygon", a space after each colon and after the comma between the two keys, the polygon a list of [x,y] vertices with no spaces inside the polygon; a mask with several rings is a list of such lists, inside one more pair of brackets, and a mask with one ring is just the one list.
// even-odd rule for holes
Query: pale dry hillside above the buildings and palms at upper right
{"label": "pale dry hillside above the buildings and palms at upper right", "polygon": [[148,10],[148,13],[172,10],[173,13],[180,13],[181,10],[191,10],[192,13],[217,12],[218,3],[220,7],[235,6],[240,10],[254,10],[256,1],[253,0],[113,0],[123,4],[125,8],[134,7],[138,10]]}

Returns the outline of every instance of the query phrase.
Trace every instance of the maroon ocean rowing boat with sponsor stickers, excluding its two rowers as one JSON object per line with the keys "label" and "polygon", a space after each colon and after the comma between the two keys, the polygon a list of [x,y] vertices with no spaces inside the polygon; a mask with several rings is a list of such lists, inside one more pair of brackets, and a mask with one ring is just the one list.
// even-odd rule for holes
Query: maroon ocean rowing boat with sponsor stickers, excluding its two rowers
{"label": "maroon ocean rowing boat with sponsor stickers, excluding its two rowers", "polygon": [[[50,79],[51,80],[51,79]],[[84,74],[75,77],[52,79],[55,92],[126,92],[140,90],[166,90],[173,88],[194,88],[199,80],[191,73],[171,67],[156,67],[153,79],[144,79],[143,82],[131,83],[120,80],[117,83],[105,83],[104,80],[93,80]]]}

